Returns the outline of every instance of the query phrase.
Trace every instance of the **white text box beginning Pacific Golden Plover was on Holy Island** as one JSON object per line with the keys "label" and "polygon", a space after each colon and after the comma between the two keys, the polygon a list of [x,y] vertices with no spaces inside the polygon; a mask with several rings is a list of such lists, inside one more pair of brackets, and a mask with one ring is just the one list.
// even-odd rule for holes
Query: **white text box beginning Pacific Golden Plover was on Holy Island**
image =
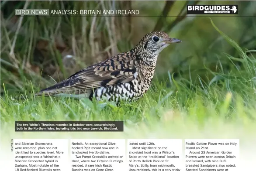
{"label": "white text box beginning Pacific Golden Plover was on Holy Island", "polygon": [[186,171],[238,171],[239,140],[185,140]]}

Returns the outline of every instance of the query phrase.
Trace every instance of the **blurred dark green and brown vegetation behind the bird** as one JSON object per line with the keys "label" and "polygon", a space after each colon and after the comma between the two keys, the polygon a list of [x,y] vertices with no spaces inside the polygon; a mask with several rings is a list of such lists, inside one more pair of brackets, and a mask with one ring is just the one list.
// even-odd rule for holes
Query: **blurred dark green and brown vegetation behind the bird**
{"label": "blurred dark green and brown vegetation behind the bird", "polygon": [[[187,4],[238,4],[239,15],[187,15]],[[20,17],[14,16],[15,8],[133,9],[144,17]],[[154,81],[166,82],[173,75],[193,84],[209,84],[213,72],[241,67],[239,60],[226,57],[240,58],[209,17],[247,51],[256,49],[255,9],[255,1],[1,1],[1,95],[3,83],[9,94],[30,90],[31,85],[37,90],[45,88],[128,51],[156,29],[183,42],[159,55]]]}

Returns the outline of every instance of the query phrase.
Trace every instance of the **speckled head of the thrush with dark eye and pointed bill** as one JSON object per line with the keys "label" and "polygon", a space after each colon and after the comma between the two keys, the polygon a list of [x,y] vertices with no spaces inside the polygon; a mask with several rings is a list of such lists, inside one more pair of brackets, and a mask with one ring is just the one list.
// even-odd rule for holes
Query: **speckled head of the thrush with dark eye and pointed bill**
{"label": "speckled head of the thrush with dark eye and pointed bill", "polygon": [[142,38],[138,43],[137,48],[146,51],[152,56],[158,56],[169,44],[180,42],[179,39],[170,38],[170,36],[163,31],[152,31]]}

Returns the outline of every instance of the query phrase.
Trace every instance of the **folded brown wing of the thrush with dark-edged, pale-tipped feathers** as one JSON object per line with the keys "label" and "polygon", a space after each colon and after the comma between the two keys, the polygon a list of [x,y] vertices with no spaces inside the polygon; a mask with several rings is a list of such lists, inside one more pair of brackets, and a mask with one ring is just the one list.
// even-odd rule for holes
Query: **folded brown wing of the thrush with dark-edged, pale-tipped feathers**
{"label": "folded brown wing of the thrush with dark-edged, pale-tipped feathers", "polygon": [[84,68],[71,75],[68,79],[42,89],[41,92],[57,89],[91,89],[121,82],[130,82],[137,76],[137,61],[135,59],[135,54],[132,52],[115,55],[103,62]]}

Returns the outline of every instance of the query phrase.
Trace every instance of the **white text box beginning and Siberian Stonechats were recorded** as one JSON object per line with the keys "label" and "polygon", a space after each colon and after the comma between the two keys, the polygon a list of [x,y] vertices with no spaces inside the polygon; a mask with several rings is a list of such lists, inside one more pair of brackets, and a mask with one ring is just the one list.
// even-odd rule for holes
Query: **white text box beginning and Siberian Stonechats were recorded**
{"label": "white text box beginning and Siberian Stonechats were recorded", "polygon": [[14,140],[14,171],[66,171],[68,140]]}

